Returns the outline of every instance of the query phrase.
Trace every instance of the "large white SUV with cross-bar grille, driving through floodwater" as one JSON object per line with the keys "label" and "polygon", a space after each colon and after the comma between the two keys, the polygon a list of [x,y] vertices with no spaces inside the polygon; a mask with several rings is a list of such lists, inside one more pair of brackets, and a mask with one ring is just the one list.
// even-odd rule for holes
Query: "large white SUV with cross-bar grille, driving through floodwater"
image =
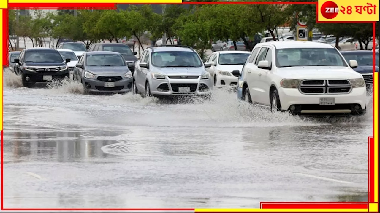
{"label": "large white SUV with cross-bar grille, driving through floodwater", "polygon": [[329,44],[259,43],[244,64],[238,97],[292,114],[362,115],[366,84],[357,66]]}

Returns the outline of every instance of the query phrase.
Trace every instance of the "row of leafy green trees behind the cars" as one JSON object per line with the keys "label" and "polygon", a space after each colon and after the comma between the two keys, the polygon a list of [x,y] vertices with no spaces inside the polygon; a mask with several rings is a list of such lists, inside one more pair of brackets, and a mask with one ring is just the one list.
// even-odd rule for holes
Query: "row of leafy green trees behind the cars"
{"label": "row of leafy green trees behind the cars", "polygon": [[[264,2],[256,0],[260,1]],[[298,19],[308,23],[309,30],[317,28],[325,34],[357,38],[365,44],[362,47],[359,43],[361,49],[366,49],[372,36],[372,24],[316,23],[315,9],[315,5],[281,3],[198,4],[189,9],[181,5],[166,5],[165,13],[157,14],[150,5],[131,5],[126,10],[78,10],[76,16],[70,10],[47,14],[36,10],[33,19],[19,16],[18,24],[15,11],[9,10],[9,35],[17,35],[24,41],[29,38],[33,46],[43,46],[47,38],[69,38],[82,41],[87,47],[101,40],[118,42],[120,38],[133,37],[143,49],[141,38],[145,32],[149,32],[152,41],[166,33],[171,43],[174,38],[180,38],[182,44],[194,47],[203,56],[205,50],[211,49],[210,41],[242,40],[252,49],[248,40],[253,40],[255,34],[267,31],[275,37],[277,27],[290,23],[294,28]]]}

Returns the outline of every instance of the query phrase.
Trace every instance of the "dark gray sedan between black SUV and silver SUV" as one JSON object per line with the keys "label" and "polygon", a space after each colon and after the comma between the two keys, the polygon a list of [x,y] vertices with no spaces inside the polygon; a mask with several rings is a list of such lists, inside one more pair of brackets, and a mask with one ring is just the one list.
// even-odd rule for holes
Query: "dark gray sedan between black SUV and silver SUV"
{"label": "dark gray sedan between black SUV and silver SUV", "polygon": [[132,73],[117,52],[84,53],[76,64],[73,78],[82,83],[86,92],[125,93],[132,90]]}

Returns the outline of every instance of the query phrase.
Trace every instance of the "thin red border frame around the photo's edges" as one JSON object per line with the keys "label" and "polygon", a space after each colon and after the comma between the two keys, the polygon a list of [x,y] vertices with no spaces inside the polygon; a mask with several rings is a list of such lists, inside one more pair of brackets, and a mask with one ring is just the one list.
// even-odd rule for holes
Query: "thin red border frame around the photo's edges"
{"label": "thin red border frame around the photo's edges", "polygon": [[[141,3],[140,3],[141,4]],[[148,4],[148,3],[144,3]],[[162,3],[149,3],[162,4]],[[179,4],[179,3],[172,3]],[[183,2],[183,4],[314,4],[316,5],[317,23],[326,23],[318,21],[318,2]],[[8,3],[8,9],[116,9],[116,3]],[[8,9],[3,9],[3,64],[8,66]],[[373,36],[375,37],[376,22],[328,22],[328,23],[373,23]],[[375,41],[374,41],[375,44]],[[5,48],[6,47],[6,48]],[[375,52],[373,52],[375,55]],[[374,57],[375,62],[375,57]],[[375,63],[374,63],[375,64]],[[375,72],[375,67],[374,70]],[[2,97],[3,98],[3,97]],[[373,102],[373,110],[375,103]],[[373,125],[374,125],[373,121]],[[375,127],[373,127],[375,128]],[[374,131],[375,129],[373,129]],[[3,131],[1,131],[1,142],[3,142]],[[367,209],[369,203],[374,202],[374,191],[371,190],[375,185],[374,162],[375,141],[372,136],[368,137],[368,202],[260,202],[261,208],[284,209],[284,208],[351,208],[351,209]],[[3,186],[3,143],[1,143],[1,185]],[[1,210],[195,210],[194,208],[3,208],[4,197],[3,187],[1,187]]]}

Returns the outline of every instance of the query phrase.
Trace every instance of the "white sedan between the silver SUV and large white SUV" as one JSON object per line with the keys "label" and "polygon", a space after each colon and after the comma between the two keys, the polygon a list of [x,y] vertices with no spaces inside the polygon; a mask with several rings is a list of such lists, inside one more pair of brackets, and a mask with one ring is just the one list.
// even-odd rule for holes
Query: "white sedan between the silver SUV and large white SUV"
{"label": "white sedan between the silver SUV and large white SUV", "polygon": [[210,73],[214,86],[236,86],[237,77],[250,52],[239,50],[218,51],[206,60],[207,72]]}

